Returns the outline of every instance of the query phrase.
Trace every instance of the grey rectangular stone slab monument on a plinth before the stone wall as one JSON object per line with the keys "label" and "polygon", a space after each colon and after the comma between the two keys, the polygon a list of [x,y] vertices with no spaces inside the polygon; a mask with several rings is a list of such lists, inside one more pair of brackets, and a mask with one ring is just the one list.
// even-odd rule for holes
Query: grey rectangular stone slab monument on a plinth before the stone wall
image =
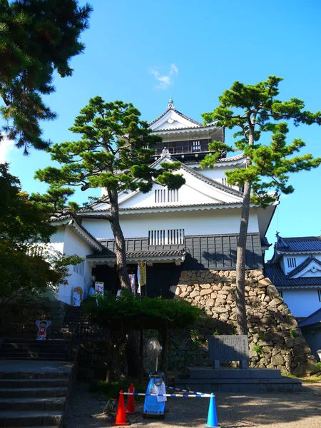
{"label": "grey rectangular stone slab monument on a plinth before the stone wall", "polygon": [[248,336],[210,336],[208,337],[210,360],[241,361],[250,360]]}

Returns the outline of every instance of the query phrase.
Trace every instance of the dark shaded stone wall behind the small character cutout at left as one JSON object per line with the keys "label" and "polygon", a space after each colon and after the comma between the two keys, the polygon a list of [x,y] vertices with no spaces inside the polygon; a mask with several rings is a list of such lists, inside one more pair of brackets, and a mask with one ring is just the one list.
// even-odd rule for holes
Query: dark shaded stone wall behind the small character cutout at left
{"label": "dark shaded stone wall behind the small character cutout at left", "polygon": [[58,301],[44,301],[36,304],[21,305],[13,303],[4,307],[0,335],[11,337],[36,338],[38,328],[36,320],[51,320],[47,330],[50,338],[53,330],[61,327],[68,305]]}

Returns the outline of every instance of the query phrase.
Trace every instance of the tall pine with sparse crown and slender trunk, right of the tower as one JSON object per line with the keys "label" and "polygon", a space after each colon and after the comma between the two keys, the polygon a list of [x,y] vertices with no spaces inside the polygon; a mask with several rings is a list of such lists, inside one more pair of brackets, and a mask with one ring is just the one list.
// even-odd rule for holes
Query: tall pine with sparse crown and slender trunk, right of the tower
{"label": "tall pine with sparse crown and slender trunk, right of the tower", "polygon": [[[216,121],[217,126],[228,129],[238,128],[233,135],[236,150],[246,156],[246,167],[226,173],[228,184],[243,188],[243,207],[240,218],[236,263],[236,311],[238,334],[246,335],[247,320],[245,311],[245,250],[248,233],[250,203],[265,208],[275,200],[273,190],[285,194],[294,188],[288,184],[290,173],[317,168],[321,158],[311,154],[296,156],[305,142],[295,138],[287,143],[287,121],[295,126],[300,123],[321,124],[321,113],[305,111],[305,104],[298,98],[280,101],[279,83],[282,78],[269,76],[266,81],[255,85],[244,85],[236,81],[230,89],[219,97],[220,105],[210,113],[204,113],[205,123]],[[263,133],[269,133],[270,143],[260,143]],[[230,151],[233,147],[220,141],[210,143],[215,151],[203,160],[201,166],[213,166],[220,151]],[[272,190],[272,193],[271,193]]]}

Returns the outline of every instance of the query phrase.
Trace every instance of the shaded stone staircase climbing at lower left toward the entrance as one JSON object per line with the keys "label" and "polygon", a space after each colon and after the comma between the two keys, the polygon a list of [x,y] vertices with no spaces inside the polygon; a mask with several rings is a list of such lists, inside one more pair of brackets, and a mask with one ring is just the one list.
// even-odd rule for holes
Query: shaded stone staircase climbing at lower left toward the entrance
{"label": "shaded stone staircase climbing at lower left toward the entrance", "polygon": [[47,340],[2,337],[0,427],[60,427],[73,383],[73,346],[83,307],[68,307],[63,325],[49,327]]}

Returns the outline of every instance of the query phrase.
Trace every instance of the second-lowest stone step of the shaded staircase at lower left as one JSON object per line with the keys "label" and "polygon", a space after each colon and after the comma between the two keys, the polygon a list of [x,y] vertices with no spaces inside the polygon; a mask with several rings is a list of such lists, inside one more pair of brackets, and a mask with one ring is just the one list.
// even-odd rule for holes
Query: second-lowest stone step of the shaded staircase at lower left
{"label": "second-lowest stone step of the shaded staircase at lower left", "polygon": [[1,410],[63,410],[66,397],[1,398]]}

